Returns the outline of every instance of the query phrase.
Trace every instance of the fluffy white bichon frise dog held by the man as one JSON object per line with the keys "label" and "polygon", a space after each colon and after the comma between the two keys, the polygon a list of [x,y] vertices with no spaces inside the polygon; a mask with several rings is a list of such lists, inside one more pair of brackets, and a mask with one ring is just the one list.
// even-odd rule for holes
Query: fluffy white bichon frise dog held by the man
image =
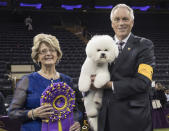
{"label": "fluffy white bichon frise dog held by the man", "polygon": [[[99,88],[110,81],[108,63],[113,62],[118,54],[118,47],[109,35],[95,35],[86,46],[87,58],[81,68],[78,86],[85,94],[84,105],[94,131],[97,131],[98,109],[102,104],[102,90]],[[90,89],[91,75],[96,75],[94,86],[98,90]]]}

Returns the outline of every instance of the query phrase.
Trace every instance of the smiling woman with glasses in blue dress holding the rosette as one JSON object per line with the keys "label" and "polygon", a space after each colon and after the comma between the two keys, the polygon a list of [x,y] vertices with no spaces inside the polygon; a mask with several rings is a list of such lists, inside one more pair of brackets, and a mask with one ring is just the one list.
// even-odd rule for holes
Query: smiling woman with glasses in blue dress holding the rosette
{"label": "smiling woman with glasses in blue dress holding the rosette", "polygon": [[[59,41],[55,36],[36,35],[31,56],[40,70],[22,78],[9,108],[9,117],[22,120],[21,131],[41,131],[42,119],[48,119],[54,114],[50,104],[40,105],[41,94],[51,83],[63,81],[72,87],[72,79],[57,72],[55,68],[62,57]],[[80,124],[74,122],[68,130],[78,131]]]}

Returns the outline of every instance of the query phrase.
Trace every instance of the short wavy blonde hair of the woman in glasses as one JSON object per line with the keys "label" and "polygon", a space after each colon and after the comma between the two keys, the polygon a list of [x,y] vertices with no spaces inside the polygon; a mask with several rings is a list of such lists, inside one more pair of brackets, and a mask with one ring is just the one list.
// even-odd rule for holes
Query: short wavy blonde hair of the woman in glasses
{"label": "short wavy blonde hair of the woman in glasses", "polygon": [[62,51],[60,49],[59,41],[55,36],[52,36],[50,34],[38,34],[33,38],[33,47],[32,47],[32,60],[36,64],[38,63],[38,53],[39,53],[39,47],[41,43],[47,43],[49,46],[53,47],[57,51],[57,62],[62,58]]}

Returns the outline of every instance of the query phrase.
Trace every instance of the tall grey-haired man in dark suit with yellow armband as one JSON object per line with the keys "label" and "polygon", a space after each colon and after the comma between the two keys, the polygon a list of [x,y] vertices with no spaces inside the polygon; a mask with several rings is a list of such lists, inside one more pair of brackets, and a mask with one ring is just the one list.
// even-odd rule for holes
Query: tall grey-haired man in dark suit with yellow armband
{"label": "tall grey-haired man in dark suit with yellow armband", "polygon": [[116,5],[110,18],[121,53],[109,68],[111,81],[103,87],[98,131],[152,131],[149,87],[155,65],[153,43],[131,33],[134,14],[127,5]]}

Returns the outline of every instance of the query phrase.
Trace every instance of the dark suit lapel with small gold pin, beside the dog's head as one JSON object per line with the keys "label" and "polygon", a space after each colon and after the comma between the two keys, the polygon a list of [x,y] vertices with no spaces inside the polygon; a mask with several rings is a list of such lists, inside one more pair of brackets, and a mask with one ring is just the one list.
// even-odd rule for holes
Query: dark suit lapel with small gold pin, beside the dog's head
{"label": "dark suit lapel with small gold pin, beside the dog's head", "polygon": [[125,59],[128,58],[128,55],[130,54],[130,51],[133,48],[133,42],[134,42],[134,35],[131,34],[129,39],[127,40],[124,49],[114,61],[113,71],[115,71],[120,66],[121,62],[125,61]]}

